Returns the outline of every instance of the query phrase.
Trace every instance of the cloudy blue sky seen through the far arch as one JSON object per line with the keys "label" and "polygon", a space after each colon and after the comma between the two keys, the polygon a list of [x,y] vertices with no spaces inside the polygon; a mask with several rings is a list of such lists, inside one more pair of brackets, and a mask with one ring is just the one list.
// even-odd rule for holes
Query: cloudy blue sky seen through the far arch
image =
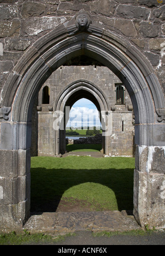
{"label": "cloudy blue sky seen through the far arch", "polygon": [[[83,127],[89,126],[100,126],[100,119],[98,118],[98,111],[96,106],[87,99],[81,99],[75,102],[70,110],[70,117],[67,127],[81,127],[83,122]],[[83,117],[83,121],[82,121]]]}

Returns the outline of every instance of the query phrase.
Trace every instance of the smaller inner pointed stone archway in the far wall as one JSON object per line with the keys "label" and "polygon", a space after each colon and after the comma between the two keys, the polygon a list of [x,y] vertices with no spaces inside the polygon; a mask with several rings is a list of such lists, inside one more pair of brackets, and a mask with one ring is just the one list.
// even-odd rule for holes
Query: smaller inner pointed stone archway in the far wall
{"label": "smaller inner pointed stone archway in the far wall", "polygon": [[[55,132],[55,155],[64,154],[65,152],[65,120],[66,117],[65,108],[71,108],[73,104],[85,97],[91,100],[100,112],[100,120],[103,127],[102,136],[102,149],[104,154],[109,155],[109,136],[112,133],[112,111],[108,106],[106,95],[97,88],[96,85],[90,81],[78,80],[67,86],[62,95],[58,97],[57,102],[54,104],[54,117],[57,122],[54,121],[57,127]],[[61,115],[61,117],[60,117]],[[67,123],[67,122],[66,122]]]}

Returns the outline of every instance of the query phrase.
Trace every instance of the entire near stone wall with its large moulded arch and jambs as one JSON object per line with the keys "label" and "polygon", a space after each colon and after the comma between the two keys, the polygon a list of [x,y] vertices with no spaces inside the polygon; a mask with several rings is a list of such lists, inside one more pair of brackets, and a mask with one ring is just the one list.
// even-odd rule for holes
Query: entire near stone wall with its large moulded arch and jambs
{"label": "entire near stone wall with its large moulded arch and jambs", "polygon": [[[36,92],[30,89],[40,89],[38,84],[35,85],[34,80],[38,76],[42,86],[42,72],[45,69],[46,75],[50,74],[48,57],[44,62],[46,50],[51,61],[53,61],[53,57],[57,58],[58,51],[62,54],[59,60],[62,60],[65,57],[64,51],[61,50],[62,43],[64,43],[68,57],[69,46],[74,45],[72,40],[75,40],[78,45],[83,41],[84,36],[87,36],[88,32],[85,31],[70,37],[69,31],[73,32],[75,23],[74,26],[72,26],[73,23],[71,26],[67,25],[67,22],[83,8],[90,12],[92,23],[97,22],[97,25],[91,25],[91,31],[97,35],[93,36],[91,33],[90,40],[85,40],[86,43],[89,43],[90,52],[92,52],[91,46],[94,43],[96,47],[94,56],[101,56],[105,61],[107,55],[108,67],[111,67],[111,58],[114,57],[116,64],[117,59],[120,58],[124,66],[121,66],[122,69],[120,69],[116,65],[116,70],[118,70],[118,74],[127,72],[126,78],[129,80],[130,89],[137,94],[137,102],[132,97],[138,112],[135,113],[135,117],[138,115],[140,122],[137,122],[135,131],[137,135],[134,172],[135,219],[141,226],[165,227],[164,98],[157,82],[158,78],[163,91],[165,91],[164,0],[0,0],[0,107],[4,106],[1,107],[0,115],[2,121],[0,126],[2,160],[0,227],[3,228],[3,231],[8,227],[12,231],[15,230],[15,226],[23,226],[30,216],[31,124],[27,111],[30,112],[32,109],[30,100]],[[60,24],[64,25],[58,26]],[[98,25],[105,28],[101,40]],[[46,40],[48,32],[50,34]],[[51,36],[53,36],[53,40]],[[38,39],[39,42],[36,42]],[[51,52],[49,40],[58,44],[57,47],[54,47],[56,49],[53,49],[53,52]],[[42,47],[43,44],[47,48]],[[128,46],[133,47],[130,47],[129,50]],[[21,56],[29,48],[29,55],[25,55],[26,57],[21,59]],[[111,49],[113,49],[114,55]],[[83,50],[81,45],[79,50]],[[89,49],[86,47],[85,50]],[[103,51],[104,56],[102,53],[98,54],[99,51]],[[75,51],[72,52],[72,57],[74,57],[74,53]],[[143,56],[144,61],[142,61]],[[151,62],[155,72],[145,56]],[[19,65],[14,69],[19,60],[21,60]],[[139,60],[141,60],[142,67],[140,67]],[[43,64],[40,69],[38,68],[39,63]],[[53,68],[53,63],[49,68]],[[34,69],[31,68],[32,64],[34,64]],[[61,64],[58,63],[57,67]],[[124,72],[122,72],[123,69]],[[131,86],[131,79],[137,86],[137,90]],[[140,84],[138,79],[142,81],[146,79],[146,83]],[[20,86],[18,86],[19,83]],[[146,87],[144,88],[142,85],[146,85]],[[14,102],[13,105],[12,102]],[[153,107],[153,102],[155,107]],[[12,108],[10,109],[10,107]],[[9,114],[10,110],[12,115]],[[20,110],[19,113],[18,110]],[[10,115],[9,119],[8,114]],[[10,119],[10,117],[14,118]]]}

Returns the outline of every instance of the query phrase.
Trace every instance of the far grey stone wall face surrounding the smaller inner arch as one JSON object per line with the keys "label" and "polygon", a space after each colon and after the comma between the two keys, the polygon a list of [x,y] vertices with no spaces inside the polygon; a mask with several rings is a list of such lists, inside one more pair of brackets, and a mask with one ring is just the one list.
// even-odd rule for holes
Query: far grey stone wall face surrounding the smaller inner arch
{"label": "far grey stone wall face surrounding the smaller inner arch", "polygon": [[[116,104],[116,85],[122,82],[109,68],[103,66],[62,66],[42,85],[38,94],[38,107],[37,109],[36,106],[34,107],[36,115],[32,118],[32,123],[38,118],[37,126],[32,125],[34,128],[31,146],[33,155],[54,155],[53,106],[57,104],[58,97],[67,86],[78,80],[89,81],[97,86],[106,95],[109,110],[113,110],[112,134],[109,137],[110,155],[133,156],[134,126],[131,100],[125,89],[125,104]],[[42,104],[42,92],[45,86],[50,88],[50,104]],[[36,134],[38,134],[38,141]],[[35,149],[37,149],[36,153]]]}

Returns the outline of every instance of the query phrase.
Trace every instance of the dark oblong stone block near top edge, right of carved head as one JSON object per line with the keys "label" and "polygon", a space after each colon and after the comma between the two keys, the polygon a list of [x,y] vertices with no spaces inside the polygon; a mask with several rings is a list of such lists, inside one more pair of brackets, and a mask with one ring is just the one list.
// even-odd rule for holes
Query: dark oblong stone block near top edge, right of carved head
{"label": "dark oblong stone block near top edge, right of carved head", "polygon": [[149,18],[150,9],[120,4],[117,8],[117,14],[124,18],[146,20]]}

